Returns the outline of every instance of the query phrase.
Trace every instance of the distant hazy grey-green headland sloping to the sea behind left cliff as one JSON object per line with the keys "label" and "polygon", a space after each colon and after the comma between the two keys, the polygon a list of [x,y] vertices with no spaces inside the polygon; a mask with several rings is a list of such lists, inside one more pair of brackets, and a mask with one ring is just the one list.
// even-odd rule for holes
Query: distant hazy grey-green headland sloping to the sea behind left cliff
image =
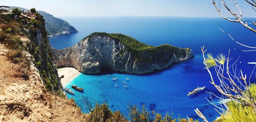
{"label": "distant hazy grey-green headland sloping to the sea behind left cliff", "polygon": [[[11,9],[15,9],[15,8],[28,11],[28,9],[25,9],[25,8],[11,6]],[[38,11],[38,13],[44,16],[45,28],[49,37],[78,32],[76,28],[74,28],[73,26],[70,26],[70,24],[65,20],[56,18],[52,14],[49,14],[44,11]]]}

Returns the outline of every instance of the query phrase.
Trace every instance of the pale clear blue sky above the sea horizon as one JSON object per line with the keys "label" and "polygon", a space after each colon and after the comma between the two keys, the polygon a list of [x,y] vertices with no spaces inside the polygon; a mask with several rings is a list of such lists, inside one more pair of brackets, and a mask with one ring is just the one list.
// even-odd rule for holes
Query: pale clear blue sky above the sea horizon
{"label": "pale clear blue sky above the sea horizon", "polygon": [[[229,0],[226,0],[229,3]],[[256,17],[238,0],[244,17]],[[219,17],[212,0],[1,0],[1,6],[36,8],[54,16],[178,16]],[[235,8],[233,8],[235,9]],[[225,10],[223,7],[221,10]],[[227,14],[228,15],[228,14]]]}

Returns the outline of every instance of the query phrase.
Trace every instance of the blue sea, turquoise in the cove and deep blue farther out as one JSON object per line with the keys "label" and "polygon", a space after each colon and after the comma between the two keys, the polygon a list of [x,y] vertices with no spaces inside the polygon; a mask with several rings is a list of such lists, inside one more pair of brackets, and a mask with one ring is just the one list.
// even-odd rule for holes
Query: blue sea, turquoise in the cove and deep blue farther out
{"label": "blue sea, turquoise in the cove and deep blue farther out", "polygon": [[[108,33],[122,33],[148,45],[170,44],[177,47],[190,47],[194,52],[192,59],[175,64],[162,71],[151,74],[134,75],[122,74],[104,69],[102,74],[81,74],[71,85],[84,88],[84,92],[74,91],[74,98],[83,112],[88,113],[95,103],[106,102],[113,111],[120,110],[127,113],[128,105],[145,105],[148,110],[154,110],[163,115],[169,111],[176,117],[186,116],[200,119],[194,109],[199,108],[208,120],[212,121],[220,116],[214,106],[207,102],[209,93],[218,92],[209,83],[209,74],[204,69],[201,46],[205,45],[207,53],[213,55],[228,53],[230,49],[231,62],[237,62],[237,69],[242,69],[250,75],[254,65],[247,62],[256,62],[255,52],[243,52],[238,49],[247,49],[236,44],[221,32],[218,27],[228,32],[235,40],[250,46],[256,46],[256,34],[247,30],[239,23],[231,23],[222,18],[191,18],[191,17],[61,17],[79,32],[70,35],[61,35],[50,39],[52,47],[61,49],[78,43],[87,35],[100,31]],[[252,18],[247,19],[253,20]],[[234,49],[235,48],[235,49]],[[108,75],[110,75],[108,77]],[[117,80],[113,81],[112,78]],[[130,81],[125,79],[129,78]],[[215,79],[216,82],[218,81]],[[255,77],[252,78],[255,81]],[[128,87],[123,87],[126,82]],[[115,86],[117,85],[117,87]],[[65,87],[64,86],[64,87]],[[187,96],[189,91],[196,87],[205,86],[204,91]],[[215,102],[218,99],[213,97]],[[201,120],[201,119],[200,119]]]}

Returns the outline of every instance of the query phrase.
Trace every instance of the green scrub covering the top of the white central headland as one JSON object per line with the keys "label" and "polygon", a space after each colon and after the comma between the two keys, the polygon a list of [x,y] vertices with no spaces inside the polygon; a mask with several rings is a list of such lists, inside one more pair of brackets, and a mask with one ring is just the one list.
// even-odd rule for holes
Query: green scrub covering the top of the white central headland
{"label": "green scrub covering the top of the white central headland", "polygon": [[[190,48],[177,48],[168,44],[159,46],[146,45],[145,43],[141,43],[136,39],[124,34],[108,34],[104,32],[95,32],[87,37],[88,40],[90,40],[92,37],[95,36],[110,37],[113,40],[122,43],[123,45],[125,45],[125,51],[129,51],[131,54],[134,54],[137,60],[142,61],[158,62],[159,60],[165,60],[165,58],[160,58],[166,57],[166,59],[170,59],[170,57],[173,57],[174,54],[185,56],[186,53],[191,51]],[[124,52],[120,50],[120,54],[123,53]]]}

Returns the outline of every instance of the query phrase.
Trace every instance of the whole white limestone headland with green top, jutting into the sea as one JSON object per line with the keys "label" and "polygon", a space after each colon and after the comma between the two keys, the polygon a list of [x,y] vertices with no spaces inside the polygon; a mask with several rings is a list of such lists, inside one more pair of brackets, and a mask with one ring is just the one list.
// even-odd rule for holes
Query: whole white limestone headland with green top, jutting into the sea
{"label": "whole white limestone headland with green top, jutting into the sea", "polygon": [[57,67],[75,67],[84,74],[98,74],[101,68],[145,74],[192,57],[190,48],[154,47],[122,34],[107,33],[93,33],[70,48],[52,49],[52,53]]}

